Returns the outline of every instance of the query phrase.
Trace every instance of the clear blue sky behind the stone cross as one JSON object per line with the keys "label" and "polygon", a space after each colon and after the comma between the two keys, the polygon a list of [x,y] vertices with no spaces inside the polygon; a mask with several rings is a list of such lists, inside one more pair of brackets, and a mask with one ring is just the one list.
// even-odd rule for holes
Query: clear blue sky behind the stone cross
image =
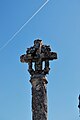
{"label": "clear blue sky behind the stone cross", "polygon": [[[0,48],[45,0],[0,0]],[[58,54],[48,78],[48,119],[79,120],[80,0],[50,0],[0,51],[0,120],[31,120],[31,84],[19,57],[36,38]]]}

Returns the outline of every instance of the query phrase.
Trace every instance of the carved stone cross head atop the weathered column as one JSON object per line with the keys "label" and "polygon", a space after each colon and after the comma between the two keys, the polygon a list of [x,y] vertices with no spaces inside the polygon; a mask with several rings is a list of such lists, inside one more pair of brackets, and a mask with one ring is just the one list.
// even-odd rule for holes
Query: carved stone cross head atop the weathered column
{"label": "carved stone cross head atop the weathered column", "polygon": [[[33,74],[48,74],[49,60],[57,59],[57,53],[51,52],[49,45],[43,45],[42,40],[34,40],[34,45],[27,48],[26,54],[20,57],[20,61],[23,63],[28,63],[29,73]],[[43,68],[43,62],[45,62],[45,67]],[[34,69],[32,68],[34,63]]]}

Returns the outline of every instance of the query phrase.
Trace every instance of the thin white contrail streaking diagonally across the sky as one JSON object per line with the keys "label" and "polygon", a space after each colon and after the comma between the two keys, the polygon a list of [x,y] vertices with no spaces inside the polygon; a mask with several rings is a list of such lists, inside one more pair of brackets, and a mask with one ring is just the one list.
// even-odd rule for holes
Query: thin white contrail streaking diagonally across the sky
{"label": "thin white contrail streaking diagonally across the sky", "polygon": [[22,26],[21,28],[14,33],[14,35],[0,48],[0,51],[5,48],[15,37],[16,35],[38,14],[38,12],[49,2],[47,0]]}

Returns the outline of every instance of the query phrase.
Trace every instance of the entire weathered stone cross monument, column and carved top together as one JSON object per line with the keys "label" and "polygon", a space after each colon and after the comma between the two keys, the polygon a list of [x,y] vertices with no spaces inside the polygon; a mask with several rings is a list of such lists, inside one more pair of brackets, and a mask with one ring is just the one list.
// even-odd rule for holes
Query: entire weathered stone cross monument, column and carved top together
{"label": "entire weathered stone cross monument, column and carved top together", "polygon": [[48,45],[43,45],[42,40],[35,40],[34,45],[27,48],[26,54],[20,61],[28,63],[28,71],[32,84],[32,120],[47,120],[47,90],[46,74],[49,73],[49,61],[57,59],[57,53],[51,52]]}

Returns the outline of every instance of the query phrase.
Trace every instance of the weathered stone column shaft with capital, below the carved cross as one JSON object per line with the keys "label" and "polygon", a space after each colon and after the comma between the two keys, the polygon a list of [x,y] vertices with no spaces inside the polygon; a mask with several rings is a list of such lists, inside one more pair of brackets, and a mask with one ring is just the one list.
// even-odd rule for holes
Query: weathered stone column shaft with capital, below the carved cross
{"label": "weathered stone column shaft with capital, below the carved cross", "polygon": [[32,84],[32,120],[47,120],[47,80],[44,75],[35,75]]}

